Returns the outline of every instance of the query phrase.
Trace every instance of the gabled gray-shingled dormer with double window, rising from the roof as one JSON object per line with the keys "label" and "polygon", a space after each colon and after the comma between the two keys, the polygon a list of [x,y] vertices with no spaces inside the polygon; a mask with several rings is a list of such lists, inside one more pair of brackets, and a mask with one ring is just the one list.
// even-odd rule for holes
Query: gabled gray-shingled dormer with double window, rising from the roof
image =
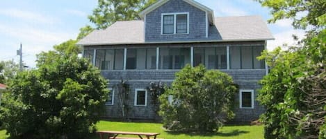
{"label": "gabled gray-shingled dormer with double window, rising from the roof", "polygon": [[199,41],[209,37],[213,10],[193,0],[161,0],[149,6],[144,20],[145,42]]}

